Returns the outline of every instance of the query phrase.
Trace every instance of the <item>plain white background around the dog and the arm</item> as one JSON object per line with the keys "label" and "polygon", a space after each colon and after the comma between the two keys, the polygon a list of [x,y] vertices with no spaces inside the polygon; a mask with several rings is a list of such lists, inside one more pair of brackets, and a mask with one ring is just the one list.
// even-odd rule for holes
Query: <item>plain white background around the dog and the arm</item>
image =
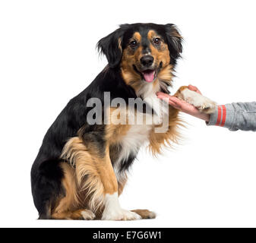
{"label": "plain white background around the dog and the arm", "polygon": [[176,24],[184,36],[173,92],[194,84],[220,104],[255,100],[254,1],[1,1],[0,226],[256,226],[255,134],[188,126],[175,150],[141,151],[120,197],[156,211],[136,222],[36,220],[30,168],[68,100],[106,65],[96,42],[118,24]]}

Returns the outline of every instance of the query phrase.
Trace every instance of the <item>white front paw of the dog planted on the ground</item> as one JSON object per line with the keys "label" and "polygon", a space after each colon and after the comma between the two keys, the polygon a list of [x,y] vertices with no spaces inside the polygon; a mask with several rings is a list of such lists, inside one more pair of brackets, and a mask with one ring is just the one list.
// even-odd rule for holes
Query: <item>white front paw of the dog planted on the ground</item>
{"label": "white front paw of the dog planted on the ground", "polygon": [[141,216],[137,213],[128,210],[112,210],[110,212],[104,212],[102,220],[137,220],[141,219]]}

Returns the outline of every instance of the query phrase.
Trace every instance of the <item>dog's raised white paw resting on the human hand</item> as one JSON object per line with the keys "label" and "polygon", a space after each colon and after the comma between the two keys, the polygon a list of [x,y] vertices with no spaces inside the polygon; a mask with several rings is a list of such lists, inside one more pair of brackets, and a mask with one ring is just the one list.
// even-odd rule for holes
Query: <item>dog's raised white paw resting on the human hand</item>
{"label": "dog's raised white paw resting on the human hand", "polygon": [[195,106],[200,112],[207,114],[213,113],[217,106],[211,99],[202,96],[200,93],[188,90],[188,87],[180,87],[175,96]]}

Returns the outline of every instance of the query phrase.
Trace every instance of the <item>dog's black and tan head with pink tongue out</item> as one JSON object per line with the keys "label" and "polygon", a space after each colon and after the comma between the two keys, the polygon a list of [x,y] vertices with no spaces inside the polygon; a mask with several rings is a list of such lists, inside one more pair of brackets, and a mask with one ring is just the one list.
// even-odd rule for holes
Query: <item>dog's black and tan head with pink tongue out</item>
{"label": "dog's black and tan head with pink tongue out", "polygon": [[172,69],[182,52],[182,36],[173,24],[122,24],[100,39],[98,49],[109,68],[121,68],[131,86],[172,79]]}

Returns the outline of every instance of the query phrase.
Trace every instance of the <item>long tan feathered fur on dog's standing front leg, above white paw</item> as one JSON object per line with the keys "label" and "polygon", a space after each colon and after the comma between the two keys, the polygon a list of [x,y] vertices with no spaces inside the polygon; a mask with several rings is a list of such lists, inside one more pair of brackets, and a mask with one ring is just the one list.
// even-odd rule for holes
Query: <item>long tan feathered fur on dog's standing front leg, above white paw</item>
{"label": "long tan feathered fur on dog's standing front leg, above white paw", "polygon": [[104,194],[118,191],[108,150],[103,158],[96,154],[95,150],[88,150],[79,137],[71,138],[62,153],[62,158],[75,165],[78,190],[86,191],[85,196],[89,197],[89,207],[93,211],[103,204]]}

